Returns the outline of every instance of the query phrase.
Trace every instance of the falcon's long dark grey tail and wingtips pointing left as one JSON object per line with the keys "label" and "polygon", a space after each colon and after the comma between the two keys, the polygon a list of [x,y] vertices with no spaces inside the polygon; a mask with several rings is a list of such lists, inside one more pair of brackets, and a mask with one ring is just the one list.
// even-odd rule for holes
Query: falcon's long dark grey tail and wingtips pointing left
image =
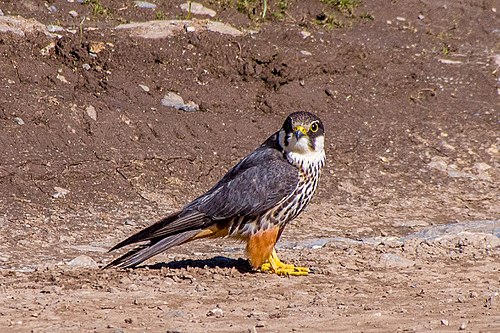
{"label": "falcon's long dark grey tail and wingtips pointing left", "polygon": [[207,226],[210,226],[211,222],[212,220],[209,217],[200,212],[173,213],[113,246],[109,252],[129,244],[149,241],[149,243],[140,245],[113,260],[103,269],[137,266],[173,246],[197,238],[196,236]]}

